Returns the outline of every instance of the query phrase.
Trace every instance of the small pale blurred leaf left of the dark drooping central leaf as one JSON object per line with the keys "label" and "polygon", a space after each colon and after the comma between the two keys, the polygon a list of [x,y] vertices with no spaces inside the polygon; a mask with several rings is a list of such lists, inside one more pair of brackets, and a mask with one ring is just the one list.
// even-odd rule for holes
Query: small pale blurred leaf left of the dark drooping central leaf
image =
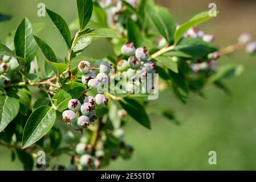
{"label": "small pale blurred leaf left of the dark drooping central leaf", "polygon": [[108,117],[115,129],[121,126],[121,117],[118,114],[118,105],[116,101],[112,101],[108,111]]}

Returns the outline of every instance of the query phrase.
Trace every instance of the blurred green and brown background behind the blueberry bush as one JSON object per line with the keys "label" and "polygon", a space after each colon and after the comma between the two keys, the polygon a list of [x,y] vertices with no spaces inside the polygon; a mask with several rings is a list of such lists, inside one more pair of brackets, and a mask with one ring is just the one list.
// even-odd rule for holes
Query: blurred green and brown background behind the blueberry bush
{"label": "blurred green and brown background behind the blueberry bush", "polygon": [[[0,12],[13,15],[9,22],[0,23],[0,39],[27,16],[32,23],[46,22],[46,28],[39,33],[56,52],[58,57],[66,55],[64,43],[50,19],[37,16],[37,5],[46,6],[63,16],[68,23],[77,16],[75,0],[0,0]],[[256,39],[255,1],[205,1],[205,0],[159,0],[170,9],[174,18],[183,23],[194,14],[208,10],[210,2],[217,4],[220,15],[199,26],[208,34],[216,35],[216,43],[225,47],[235,43],[242,32],[251,32]],[[100,45],[100,48],[99,48]],[[40,52],[40,51],[39,51]],[[83,55],[104,57],[112,47],[104,40],[97,40]],[[150,107],[167,106],[173,109],[181,122],[174,125],[160,115],[151,115],[152,130],[129,122],[126,140],[133,144],[135,152],[131,160],[116,160],[104,169],[148,169],[148,170],[217,170],[256,169],[256,60],[245,52],[222,57],[218,64],[243,64],[245,72],[238,78],[226,80],[230,96],[213,86],[205,89],[206,98],[190,94],[188,104],[183,105],[172,93],[160,93],[159,100]],[[217,165],[208,164],[208,152],[217,152]],[[66,163],[66,158],[57,163]],[[11,162],[10,150],[0,147],[0,169],[22,170],[22,164]]]}

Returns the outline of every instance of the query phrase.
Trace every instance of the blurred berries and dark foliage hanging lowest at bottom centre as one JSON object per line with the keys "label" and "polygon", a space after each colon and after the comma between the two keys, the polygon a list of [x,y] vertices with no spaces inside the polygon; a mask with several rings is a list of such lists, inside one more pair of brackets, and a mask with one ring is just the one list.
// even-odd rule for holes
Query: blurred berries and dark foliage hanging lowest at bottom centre
{"label": "blurred berries and dark foliage hanging lowest at bottom centre", "polygon": [[123,159],[131,158],[133,147],[124,142],[123,129],[114,130],[108,134],[102,133],[101,140],[95,149],[90,144],[89,138],[90,135],[84,135],[75,147],[75,152],[80,157],[79,169],[99,169],[119,156]]}

